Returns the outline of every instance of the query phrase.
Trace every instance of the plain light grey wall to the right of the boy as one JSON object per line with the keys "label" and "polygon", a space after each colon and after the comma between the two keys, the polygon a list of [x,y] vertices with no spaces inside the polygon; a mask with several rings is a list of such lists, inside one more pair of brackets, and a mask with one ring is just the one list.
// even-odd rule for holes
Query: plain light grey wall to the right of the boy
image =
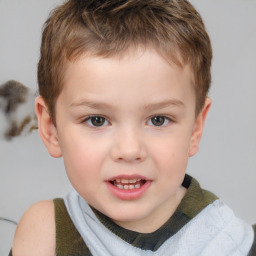
{"label": "plain light grey wall to the right of the boy", "polygon": [[213,44],[213,100],[188,172],[256,222],[256,1],[193,0]]}

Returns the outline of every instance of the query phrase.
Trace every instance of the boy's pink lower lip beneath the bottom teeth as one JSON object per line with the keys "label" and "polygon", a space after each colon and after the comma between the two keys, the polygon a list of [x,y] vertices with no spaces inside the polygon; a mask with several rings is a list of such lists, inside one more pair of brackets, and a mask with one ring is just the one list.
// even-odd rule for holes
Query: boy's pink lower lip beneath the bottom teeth
{"label": "boy's pink lower lip beneath the bottom teeth", "polygon": [[150,187],[151,181],[146,181],[140,188],[136,189],[120,189],[110,182],[106,182],[108,189],[111,193],[122,200],[134,200],[140,198]]}

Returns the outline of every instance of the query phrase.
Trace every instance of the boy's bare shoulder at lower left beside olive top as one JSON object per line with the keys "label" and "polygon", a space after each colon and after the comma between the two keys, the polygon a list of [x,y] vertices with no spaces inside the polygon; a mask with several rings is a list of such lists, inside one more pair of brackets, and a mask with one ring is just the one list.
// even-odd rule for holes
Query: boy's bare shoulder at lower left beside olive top
{"label": "boy's bare shoulder at lower left beside olive top", "polygon": [[13,256],[55,255],[55,213],[53,201],[32,205],[15,232]]}

